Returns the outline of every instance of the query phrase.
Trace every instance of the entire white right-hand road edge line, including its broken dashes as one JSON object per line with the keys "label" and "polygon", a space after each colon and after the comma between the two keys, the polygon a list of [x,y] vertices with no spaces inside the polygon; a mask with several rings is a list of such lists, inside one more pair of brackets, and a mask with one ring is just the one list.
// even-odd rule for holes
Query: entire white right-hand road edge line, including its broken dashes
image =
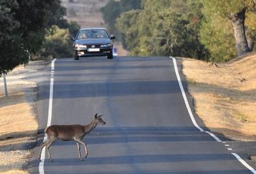
{"label": "entire white right-hand road edge line, including its broken dashes", "polygon": [[[170,56],[170,58],[172,58],[172,61],[173,61],[173,66],[174,66],[174,69],[175,69],[175,73],[176,73],[176,76],[177,76],[177,80],[178,80],[178,83],[179,83],[179,86],[180,86],[180,90],[181,90],[181,93],[182,93],[182,96],[183,96],[183,99],[184,99],[184,102],[186,104],[186,107],[188,109],[188,113],[189,113],[189,116],[193,122],[193,124],[195,125],[195,127],[197,129],[199,129],[200,131],[202,132],[205,132],[205,133],[208,133],[210,134],[217,142],[222,142],[218,137],[216,137],[215,134],[212,134],[211,132],[209,131],[204,131],[201,127],[198,126],[198,124],[196,123],[196,120],[192,114],[192,111],[191,111],[191,108],[189,107],[188,105],[188,99],[185,95],[185,91],[184,91],[184,88],[182,86],[182,83],[181,83],[181,80],[180,80],[180,74],[179,74],[179,71],[178,71],[178,67],[177,67],[177,63],[176,63],[176,59],[172,56]],[[222,142],[222,143],[227,143],[227,142]],[[232,150],[232,148],[228,148],[228,150]],[[256,174],[256,170],[254,170],[251,166],[248,165],[247,162],[245,162],[238,154],[236,153],[231,153],[232,155],[234,155],[245,167],[247,167],[249,170],[251,170],[251,172],[253,174]]]}

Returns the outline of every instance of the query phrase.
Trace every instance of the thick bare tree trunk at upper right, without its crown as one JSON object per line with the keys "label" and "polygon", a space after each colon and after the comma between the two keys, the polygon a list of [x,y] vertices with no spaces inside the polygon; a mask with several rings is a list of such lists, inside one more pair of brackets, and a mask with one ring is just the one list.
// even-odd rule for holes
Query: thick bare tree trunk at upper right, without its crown
{"label": "thick bare tree trunk at upper right, without its crown", "polygon": [[234,28],[238,56],[244,55],[250,52],[246,35],[245,35],[245,26],[244,26],[245,9],[236,14],[231,14],[230,18],[232,20],[232,25]]}

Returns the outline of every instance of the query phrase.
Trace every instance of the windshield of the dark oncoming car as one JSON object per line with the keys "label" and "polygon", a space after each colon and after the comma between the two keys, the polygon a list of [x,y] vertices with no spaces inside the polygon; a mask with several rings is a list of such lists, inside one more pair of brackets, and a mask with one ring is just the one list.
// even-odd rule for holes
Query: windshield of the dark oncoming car
{"label": "windshield of the dark oncoming car", "polygon": [[81,30],[77,39],[108,38],[105,30]]}

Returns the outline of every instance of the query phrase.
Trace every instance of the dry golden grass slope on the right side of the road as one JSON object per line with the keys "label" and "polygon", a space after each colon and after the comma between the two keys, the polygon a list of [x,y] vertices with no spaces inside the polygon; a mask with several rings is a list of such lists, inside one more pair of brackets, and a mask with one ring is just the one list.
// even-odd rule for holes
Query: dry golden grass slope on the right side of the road
{"label": "dry golden grass slope on the right side of the road", "polygon": [[183,65],[205,125],[230,138],[255,139],[256,53],[217,67],[195,59],[184,59]]}

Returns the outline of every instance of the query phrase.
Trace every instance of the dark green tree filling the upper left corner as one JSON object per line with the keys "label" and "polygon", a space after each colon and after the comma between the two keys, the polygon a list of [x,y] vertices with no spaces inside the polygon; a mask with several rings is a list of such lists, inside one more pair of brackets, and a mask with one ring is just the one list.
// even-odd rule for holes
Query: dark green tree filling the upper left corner
{"label": "dark green tree filling the upper left corner", "polygon": [[48,33],[47,22],[60,0],[0,0],[0,75],[28,63]]}

